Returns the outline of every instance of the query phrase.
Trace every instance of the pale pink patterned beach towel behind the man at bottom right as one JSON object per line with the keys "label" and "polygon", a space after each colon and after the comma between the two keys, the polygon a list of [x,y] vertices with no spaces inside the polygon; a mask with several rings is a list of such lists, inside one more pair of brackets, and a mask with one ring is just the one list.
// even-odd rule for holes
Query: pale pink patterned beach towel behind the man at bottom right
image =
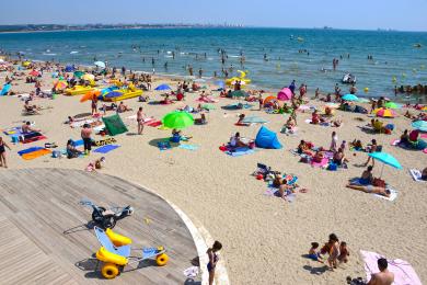
{"label": "pale pink patterned beach towel behind the man at bottom right", "polygon": [[[365,272],[369,282],[372,274],[380,272],[378,260],[384,256],[365,250],[360,250],[360,254],[365,261]],[[388,260],[388,270],[394,274],[394,285],[422,285],[418,275],[407,261],[396,259]]]}

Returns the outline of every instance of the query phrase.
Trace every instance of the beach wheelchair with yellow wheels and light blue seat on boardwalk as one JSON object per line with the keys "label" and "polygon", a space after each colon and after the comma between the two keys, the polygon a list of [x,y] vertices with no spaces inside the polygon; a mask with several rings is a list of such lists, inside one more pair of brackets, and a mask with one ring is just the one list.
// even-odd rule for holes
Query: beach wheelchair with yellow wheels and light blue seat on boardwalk
{"label": "beach wheelchair with yellow wheels and light blue seat on boardwalk", "polygon": [[94,227],[96,238],[101,243],[101,249],[96,252],[96,259],[103,262],[101,274],[112,280],[120,274],[125,266],[131,263],[139,263],[143,260],[155,259],[159,266],[166,265],[169,256],[163,247],[143,248],[142,256],[130,256],[131,239],[120,236],[111,229],[103,230]]}

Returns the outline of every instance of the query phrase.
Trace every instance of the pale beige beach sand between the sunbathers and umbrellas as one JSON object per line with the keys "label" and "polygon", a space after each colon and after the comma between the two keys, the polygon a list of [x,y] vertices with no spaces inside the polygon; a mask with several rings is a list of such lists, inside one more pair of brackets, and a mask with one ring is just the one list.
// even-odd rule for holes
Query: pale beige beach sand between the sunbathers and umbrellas
{"label": "pale beige beach sand between the sunbathers and umbrellas", "polygon": [[[42,89],[50,89],[51,81],[46,75]],[[176,84],[175,81],[157,79],[153,86],[159,82]],[[28,92],[34,89],[33,86],[21,82],[13,90]],[[160,99],[159,92],[146,94],[151,99]],[[129,125],[129,132],[136,133],[136,122],[126,117],[135,115],[139,106],[143,106],[148,116],[161,119],[164,114],[184,104],[196,106],[197,98],[197,94],[187,94],[185,103],[172,105],[149,105],[137,102],[137,99],[127,100],[125,103],[134,112],[122,114],[122,117]],[[142,136],[117,136],[117,144],[122,147],[105,155],[105,167],[101,171],[155,191],[183,209],[197,226],[205,227],[214,239],[223,244],[221,259],[226,261],[232,284],[345,284],[348,275],[365,277],[359,250],[406,260],[422,281],[427,280],[427,184],[414,182],[408,174],[408,169],[426,167],[427,155],[390,145],[405,128],[409,128],[409,119],[403,116],[384,119],[395,125],[393,135],[388,136],[361,132],[357,126],[370,121],[367,115],[337,111],[336,116],[343,118],[344,126],[332,128],[309,125],[304,119],[310,117],[310,113],[299,113],[298,135],[288,137],[278,134],[284,149],[261,149],[253,155],[233,158],[221,152],[218,147],[235,132],[254,138],[259,128],[258,125],[235,126],[239,113],[268,119],[266,126],[274,132],[279,132],[287,118],[287,115],[269,115],[259,111],[220,109],[233,102],[220,99],[219,103],[214,104],[217,110],[207,114],[207,125],[192,126],[183,132],[193,136],[188,144],[199,146],[197,150],[173,148],[160,151],[155,146],[157,139],[170,137],[171,132],[146,126]],[[31,161],[21,159],[18,150],[43,146],[47,141],[55,141],[65,148],[69,138],[79,139],[80,129],[72,129],[64,122],[68,115],[90,112],[90,102],[80,103],[79,96],[59,95],[56,100],[41,99],[34,103],[53,109],[43,111],[43,115],[23,117],[23,102],[20,99],[0,98],[1,128],[20,126],[20,122],[30,119],[35,121],[35,127],[43,129],[48,137],[47,140],[30,145],[9,144],[12,147],[12,151],[7,152],[10,169],[82,170],[90,161],[101,157],[92,153],[79,159],[54,159],[49,156]],[[322,105],[320,102],[313,104]],[[254,110],[257,110],[258,104],[254,105]],[[358,122],[356,117],[362,117],[365,122]],[[348,179],[359,176],[365,170],[355,166],[367,160],[363,152],[346,150],[350,159],[349,168],[336,172],[300,163],[299,158],[290,153],[289,149],[295,149],[301,139],[327,148],[333,130],[337,132],[339,142],[359,138],[366,145],[377,138],[383,151],[392,153],[401,162],[403,170],[385,166],[383,171],[383,179],[399,191],[394,202],[345,187]],[[9,142],[9,138],[2,136]],[[99,136],[95,138],[100,139]],[[298,183],[307,187],[308,193],[297,193],[292,203],[264,195],[266,183],[251,175],[257,162],[274,170],[297,174]],[[374,175],[380,174],[381,167],[380,162],[376,163]],[[132,206],[138,208],[138,205]],[[346,241],[350,251],[349,262],[334,272],[303,256],[312,241],[322,246],[331,232]]]}

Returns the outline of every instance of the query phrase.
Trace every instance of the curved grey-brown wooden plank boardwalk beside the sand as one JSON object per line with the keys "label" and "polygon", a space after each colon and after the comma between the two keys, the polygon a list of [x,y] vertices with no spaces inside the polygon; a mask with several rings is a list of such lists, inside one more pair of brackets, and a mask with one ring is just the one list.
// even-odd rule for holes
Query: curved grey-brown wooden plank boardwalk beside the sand
{"label": "curved grey-brown wooden plank boardwalk beside the sand", "polygon": [[[79,205],[83,197],[103,206],[131,205],[135,214],[119,220],[115,231],[130,237],[134,248],[164,246],[168,265],[141,262],[114,281],[103,280],[93,259],[100,244],[88,227],[92,212]],[[2,284],[194,284],[183,274],[194,258],[197,250],[185,224],[145,189],[78,170],[0,171]]]}

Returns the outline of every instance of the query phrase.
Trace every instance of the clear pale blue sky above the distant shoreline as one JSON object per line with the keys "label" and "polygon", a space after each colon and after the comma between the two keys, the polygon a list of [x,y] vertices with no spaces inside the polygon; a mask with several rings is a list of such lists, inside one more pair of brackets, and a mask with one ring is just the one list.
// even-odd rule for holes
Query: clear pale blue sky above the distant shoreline
{"label": "clear pale blue sky above the distant shoreline", "polygon": [[427,32],[427,0],[7,0],[0,24],[198,23]]}

